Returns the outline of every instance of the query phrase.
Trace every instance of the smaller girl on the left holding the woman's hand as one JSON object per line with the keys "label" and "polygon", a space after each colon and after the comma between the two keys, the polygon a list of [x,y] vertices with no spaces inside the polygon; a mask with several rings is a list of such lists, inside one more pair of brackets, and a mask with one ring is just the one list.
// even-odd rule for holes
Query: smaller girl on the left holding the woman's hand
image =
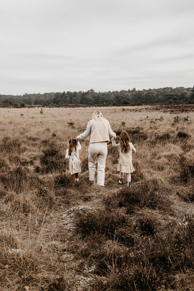
{"label": "smaller girl on the left holding the woman's hand", "polygon": [[69,171],[73,183],[75,183],[75,181],[79,181],[78,173],[81,173],[81,161],[79,157],[80,150],[80,142],[77,142],[75,138],[70,138],[69,147],[66,150],[65,159],[69,160]]}

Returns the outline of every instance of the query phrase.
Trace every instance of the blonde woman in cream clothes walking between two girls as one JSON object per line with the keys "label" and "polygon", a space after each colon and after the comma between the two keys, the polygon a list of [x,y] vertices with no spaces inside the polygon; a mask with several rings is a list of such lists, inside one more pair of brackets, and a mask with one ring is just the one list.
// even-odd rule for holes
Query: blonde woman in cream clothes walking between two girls
{"label": "blonde woman in cream clothes walking between two girls", "polygon": [[110,123],[102,116],[100,111],[95,111],[92,120],[88,122],[87,129],[77,136],[77,139],[84,139],[89,134],[90,145],[88,147],[88,167],[90,175],[90,185],[94,183],[96,163],[97,163],[97,184],[104,186],[105,164],[107,157],[107,142],[109,135],[116,137],[115,132],[111,129]]}

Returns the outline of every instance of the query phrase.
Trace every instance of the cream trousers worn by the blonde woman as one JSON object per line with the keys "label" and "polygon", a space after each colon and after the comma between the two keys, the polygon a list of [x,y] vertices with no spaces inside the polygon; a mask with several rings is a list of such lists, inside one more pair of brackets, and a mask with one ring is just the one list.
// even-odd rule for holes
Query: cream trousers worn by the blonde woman
{"label": "cream trousers worn by the blonde woman", "polygon": [[95,180],[96,163],[97,163],[97,184],[104,186],[105,164],[107,156],[107,142],[92,143],[88,147],[88,167],[90,181]]}

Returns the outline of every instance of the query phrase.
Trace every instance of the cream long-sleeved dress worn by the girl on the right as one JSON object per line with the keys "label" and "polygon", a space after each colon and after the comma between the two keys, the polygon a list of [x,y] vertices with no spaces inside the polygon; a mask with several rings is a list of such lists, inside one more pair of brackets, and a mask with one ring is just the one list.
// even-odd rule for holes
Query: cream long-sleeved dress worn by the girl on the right
{"label": "cream long-sleeved dress worn by the girl on the right", "polygon": [[121,173],[127,173],[127,174],[135,171],[133,164],[132,164],[132,150],[134,152],[136,152],[136,149],[133,146],[133,144],[129,143],[129,146],[130,146],[129,153],[125,153],[125,152],[121,151],[120,144],[116,144],[114,139],[112,139],[112,145],[114,147],[119,148],[119,164],[117,167],[117,171],[119,171]]}

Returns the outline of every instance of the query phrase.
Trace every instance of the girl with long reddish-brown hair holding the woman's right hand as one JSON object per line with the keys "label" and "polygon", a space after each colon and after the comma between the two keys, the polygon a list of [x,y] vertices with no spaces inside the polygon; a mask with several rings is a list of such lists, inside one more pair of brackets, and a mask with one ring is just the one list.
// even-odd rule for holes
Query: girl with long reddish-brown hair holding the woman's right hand
{"label": "girl with long reddish-brown hair holding the woman's right hand", "polygon": [[116,144],[115,140],[112,138],[112,145],[119,148],[119,164],[117,171],[120,171],[119,184],[123,184],[124,173],[127,174],[128,187],[130,187],[131,176],[135,169],[132,165],[132,151],[136,152],[135,147],[130,142],[130,137],[126,131],[121,132],[120,144]]}

